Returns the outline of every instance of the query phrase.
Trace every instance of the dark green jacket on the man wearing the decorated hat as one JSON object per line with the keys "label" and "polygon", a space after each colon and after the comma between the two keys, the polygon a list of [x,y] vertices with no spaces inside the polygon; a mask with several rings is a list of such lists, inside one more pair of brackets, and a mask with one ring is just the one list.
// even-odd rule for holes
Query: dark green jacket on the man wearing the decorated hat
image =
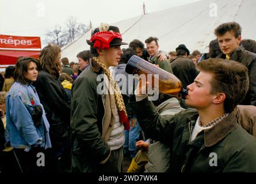
{"label": "dark green jacket on the man wearing the decorated hat", "polygon": [[71,141],[74,172],[95,172],[97,164],[110,155],[110,148],[102,136],[106,113],[104,97],[97,93],[97,86],[101,83],[97,81],[97,76],[103,74],[103,71],[94,64],[90,63],[72,85]]}

